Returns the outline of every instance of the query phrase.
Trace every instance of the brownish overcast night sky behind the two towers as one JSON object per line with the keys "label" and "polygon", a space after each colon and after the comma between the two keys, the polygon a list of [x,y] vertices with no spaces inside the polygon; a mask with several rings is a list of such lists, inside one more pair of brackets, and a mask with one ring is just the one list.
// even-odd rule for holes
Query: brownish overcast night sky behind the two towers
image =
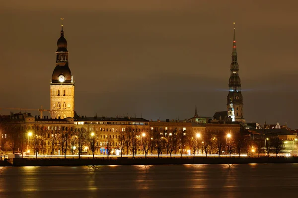
{"label": "brownish overcast night sky behind the two towers", "polygon": [[236,21],[246,122],[298,128],[297,0],[0,1],[0,108],[50,108],[64,17],[77,114],[212,117]]}

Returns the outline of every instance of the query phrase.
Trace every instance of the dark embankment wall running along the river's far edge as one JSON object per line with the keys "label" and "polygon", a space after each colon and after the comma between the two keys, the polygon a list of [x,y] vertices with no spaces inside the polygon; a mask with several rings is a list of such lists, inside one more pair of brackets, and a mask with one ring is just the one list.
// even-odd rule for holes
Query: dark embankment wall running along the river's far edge
{"label": "dark embankment wall running along the river's far edge", "polygon": [[250,164],[298,163],[298,157],[183,157],[183,158],[14,158],[0,166],[86,166],[86,165],[166,165],[166,164]]}

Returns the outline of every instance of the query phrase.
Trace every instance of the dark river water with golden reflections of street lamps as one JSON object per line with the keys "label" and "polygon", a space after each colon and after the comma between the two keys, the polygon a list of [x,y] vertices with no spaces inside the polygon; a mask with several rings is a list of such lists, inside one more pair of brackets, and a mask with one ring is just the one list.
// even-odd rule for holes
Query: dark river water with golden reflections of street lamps
{"label": "dark river water with golden reflections of street lamps", "polygon": [[298,164],[0,167],[0,198],[283,198]]}

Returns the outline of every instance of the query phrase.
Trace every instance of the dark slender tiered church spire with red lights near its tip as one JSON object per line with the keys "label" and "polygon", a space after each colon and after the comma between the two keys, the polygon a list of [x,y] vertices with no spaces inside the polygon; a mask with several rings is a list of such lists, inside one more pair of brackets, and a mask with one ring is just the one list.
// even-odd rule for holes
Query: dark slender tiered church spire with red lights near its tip
{"label": "dark slender tiered church spire with red lights near its tip", "polygon": [[239,65],[237,62],[237,48],[235,39],[235,22],[234,24],[234,39],[233,39],[233,51],[232,51],[232,63],[230,67],[231,76],[228,82],[228,95],[227,95],[227,111],[230,108],[234,109],[235,121],[245,122],[243,118],[243,98],[241,94],[241,81],[238,74]]}

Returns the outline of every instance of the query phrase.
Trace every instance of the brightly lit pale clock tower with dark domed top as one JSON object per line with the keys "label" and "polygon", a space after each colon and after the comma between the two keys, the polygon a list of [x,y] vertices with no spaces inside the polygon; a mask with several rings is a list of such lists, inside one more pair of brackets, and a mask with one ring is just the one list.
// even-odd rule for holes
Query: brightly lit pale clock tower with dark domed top
{"label": "brightly lit pale clock tower with dark domed top", "polygon": [[[61,18],[63,21],[63,18]],[[69,68],[69,52],[64,38],[63,24],[60,38],[57,41],[56,67],[52,74],[51,89],[51,117],[74,117],[74,81]]]}

